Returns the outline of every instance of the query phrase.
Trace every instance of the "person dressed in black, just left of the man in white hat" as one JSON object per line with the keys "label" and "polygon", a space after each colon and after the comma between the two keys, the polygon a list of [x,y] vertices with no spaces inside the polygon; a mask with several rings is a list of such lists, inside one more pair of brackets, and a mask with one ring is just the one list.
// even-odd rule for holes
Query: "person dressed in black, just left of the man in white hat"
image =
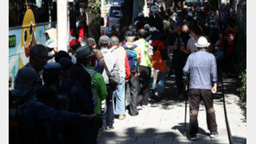
{"label": "person dressed in black, just left of the man in white hat", "polygon": [[175,22],[175,32],[170,34],[169,48],[173,50],[172,64],[175,70],[176,87],[178,91],[179,99],[184,97],[184,84],[182,81],[182,68],[185,66],[188,54],[183,53],[182,50],[187,47],[187,41],[189,40],[189,34],[182,32],[182,21],[177,19]]}

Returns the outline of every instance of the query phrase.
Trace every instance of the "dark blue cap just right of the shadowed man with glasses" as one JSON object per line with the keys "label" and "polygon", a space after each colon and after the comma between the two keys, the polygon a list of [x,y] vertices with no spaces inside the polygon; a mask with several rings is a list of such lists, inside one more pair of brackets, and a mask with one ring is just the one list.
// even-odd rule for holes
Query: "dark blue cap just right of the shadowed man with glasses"
{"label": "dark blue cap just right of the shadowed man with glasses", "polygon": [[63,75],[64,72],[61,70],[61,64],[56,62],[50,62],[46,66],[43,66],[43,75]]}

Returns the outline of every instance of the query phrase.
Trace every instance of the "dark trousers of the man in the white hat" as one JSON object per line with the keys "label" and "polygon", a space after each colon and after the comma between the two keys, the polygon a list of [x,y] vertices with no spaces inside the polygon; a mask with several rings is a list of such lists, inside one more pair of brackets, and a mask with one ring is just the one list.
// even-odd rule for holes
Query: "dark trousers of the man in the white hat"
{"label": "dark trousers of the man in the white hat", "polygon": [[208,129],[210,132],[217,132],[212,92],[210,90],[192,89],[189,90],[189,135],[198,133],[197,115],[201,98],[207,112]]}

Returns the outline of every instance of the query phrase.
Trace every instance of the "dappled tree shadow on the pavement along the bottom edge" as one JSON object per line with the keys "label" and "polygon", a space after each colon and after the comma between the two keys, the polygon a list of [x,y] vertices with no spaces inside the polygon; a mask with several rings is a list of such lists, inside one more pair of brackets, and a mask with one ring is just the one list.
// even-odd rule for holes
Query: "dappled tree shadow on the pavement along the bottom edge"
{"label": "dappled tree shadow on the pavement along the bottom edge", "polygon": [[[158,131],[157,128],[145,128],[138,129],[136,127],[126,128],[122,133],[117,131],[106,131],[101,132],[101,136],[98,139],[99,144],[168,144],[168,143],[228,143],[228,138],[220,137],[215,139],[209,138],[209,133],[204,129],[199,128],[197,141],[189,140],[189,124],[187,123],[187,136],[183,136],[184,123],[170,128],[166,131]],[[180,134],[175,131],[178,130]],[[235,144],[246,144],[246,139],[242,137],[233,137]]]}

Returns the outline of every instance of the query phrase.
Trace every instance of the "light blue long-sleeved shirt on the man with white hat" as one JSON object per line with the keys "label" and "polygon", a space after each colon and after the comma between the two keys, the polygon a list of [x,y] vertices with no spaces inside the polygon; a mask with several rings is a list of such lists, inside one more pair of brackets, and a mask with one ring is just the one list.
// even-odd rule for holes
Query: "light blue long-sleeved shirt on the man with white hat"
{"label": "light blue long-sleeved shirt on the man with white hat", "polygon": [[214,54],[201,49],[191,53],[183,68],[183,78],[189,75],[189,89],[212,90],[212,82],[217,82],[217,65]]}

